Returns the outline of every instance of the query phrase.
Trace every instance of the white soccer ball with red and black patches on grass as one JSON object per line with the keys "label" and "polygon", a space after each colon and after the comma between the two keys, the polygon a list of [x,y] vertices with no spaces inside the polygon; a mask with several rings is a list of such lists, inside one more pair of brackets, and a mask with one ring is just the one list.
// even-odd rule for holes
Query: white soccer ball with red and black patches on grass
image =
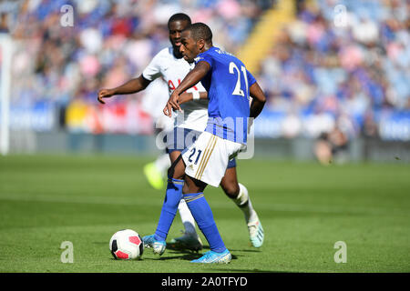
{"label": "white soccer ball with red and black patches on grass", "polygon": [[109,240],[109,250],[115,259],[137,259],[144,252],[141,236],[132,229],[123,229]]}

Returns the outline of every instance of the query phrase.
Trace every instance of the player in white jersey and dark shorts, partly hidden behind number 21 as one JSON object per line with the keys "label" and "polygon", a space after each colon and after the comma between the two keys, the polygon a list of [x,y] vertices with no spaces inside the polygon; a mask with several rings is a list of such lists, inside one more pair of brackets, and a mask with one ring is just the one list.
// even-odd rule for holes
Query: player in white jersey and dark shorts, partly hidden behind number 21
{"label": "player in white jersey and dark shorts, partly hidden behind number 21", "polygon": [[[169,41],[172,46],[162,49],[155,55],[143,73],[137,78],[113,89],[100,90],[97,96],[98,101],[104,104],[103,98],[112,95],[137,93],[147,88],[152,81],[159,77],[162,77],[168,83],[169,95],[171,95],[193,67],[193,64],[190,65],[185,61],[183,55],[179,52],[179,46],[181,45],[180,34],[190,23],[188,15],[182,13],[172,15],[168,23]],[[167,135],[166,141],[171,163],[204,131],[208,122],[207,96],[205,88],[200,83],[191,87],[186,93],[179,95],[180,107],[183,112],[176,113],[174,131]],[[159,104],[160,108],[163,108],[163,106],[163,104]],[[234,159],[230,161],[220,186],[243,212],[252,246],[260,247],[264,238],[263,228],[256,211],[251,205],[247,188],[238,183]],[[184,199],[181,199],[178,209],[185,232],[183,236],[172,239],[170,241],[171,246],[200,250],[202,243],[195,229],[195,220],[190,214],[190,209]]]}

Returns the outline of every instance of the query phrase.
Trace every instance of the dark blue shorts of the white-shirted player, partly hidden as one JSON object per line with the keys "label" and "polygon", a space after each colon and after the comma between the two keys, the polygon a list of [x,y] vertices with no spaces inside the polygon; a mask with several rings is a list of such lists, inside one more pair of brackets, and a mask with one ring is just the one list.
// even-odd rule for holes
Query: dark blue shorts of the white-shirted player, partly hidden
{"label": "dark blue shorts of the white-shirted player, partly hidden", "polygon": [[[167,154],[173,151],[182,152],[184,149],[192,145],[200,136],[202,132],[182,127],[174,127],[174,130],[170,131],[164,138],[165,145],[167,146]],[[232,158],[228,162],[227,168],[236,167],[236,159]]]}

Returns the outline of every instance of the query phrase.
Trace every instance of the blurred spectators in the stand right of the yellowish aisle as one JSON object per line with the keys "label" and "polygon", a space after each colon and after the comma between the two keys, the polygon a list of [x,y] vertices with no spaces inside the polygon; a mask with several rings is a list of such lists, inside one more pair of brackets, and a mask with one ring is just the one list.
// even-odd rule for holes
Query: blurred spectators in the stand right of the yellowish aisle
{"label": "blurred spectators in the stand right of the yellowish aisle", "polygon": [[378,135],[384,115],[410,110],[410,2],[301,1],[260,78],[284,135]]}

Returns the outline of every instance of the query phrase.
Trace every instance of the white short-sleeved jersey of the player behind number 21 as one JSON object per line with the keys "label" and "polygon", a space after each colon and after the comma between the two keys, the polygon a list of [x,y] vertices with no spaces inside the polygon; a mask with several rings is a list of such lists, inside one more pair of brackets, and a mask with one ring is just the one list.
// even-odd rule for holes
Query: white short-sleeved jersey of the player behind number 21
{"label": "white short-sleeved jersey of the player behind number 21", "polygon": [[[149,81],[162,76],[168,83],[169,95],[171,95],[193,67],[194,64],[188,63],[183,58],[176,58],[173,54],[173,48],[170,46],[164,48],[154,56],[142,72],[142,75]],[[200,83],[191,87],[187,92],[191,93],[195,90],[198,92],[206,92]],[[165,106],[165,104],[163,106]],[[183,112],[176,112],[176,126],[198,131],[205,130],[208,122],[208,99],[192,100],[180,105],[180,107]]]}

